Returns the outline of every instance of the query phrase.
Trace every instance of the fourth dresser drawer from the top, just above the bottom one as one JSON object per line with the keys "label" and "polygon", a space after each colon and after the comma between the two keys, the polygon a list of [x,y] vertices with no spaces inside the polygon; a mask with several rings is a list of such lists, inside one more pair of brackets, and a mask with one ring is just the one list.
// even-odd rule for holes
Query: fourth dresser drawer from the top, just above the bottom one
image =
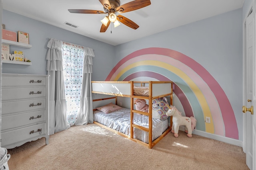
{"label": "fourth dresser drawer from the top, just above the bottom one", "polygon": [[46,121],[46,110],[2,116],[2,131]]}

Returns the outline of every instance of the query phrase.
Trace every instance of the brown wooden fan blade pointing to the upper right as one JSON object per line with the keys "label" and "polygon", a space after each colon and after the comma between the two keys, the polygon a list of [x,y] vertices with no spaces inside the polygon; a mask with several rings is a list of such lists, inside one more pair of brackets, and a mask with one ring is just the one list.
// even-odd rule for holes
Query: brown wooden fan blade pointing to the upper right
{"label": "brown wooden fan blade pointing to the upper right", "polygon": [[[121,5],[116,8],[116,10],[119,13],[124,13],[124,12],[130,12],[134,10],[138,10],[140,8],[144,8],[145,6],[149,6],[151,4],[150,0],[134,0],[132,2],[128,2],[124,5]],[[122,10],[123,9],[123,10]]]}

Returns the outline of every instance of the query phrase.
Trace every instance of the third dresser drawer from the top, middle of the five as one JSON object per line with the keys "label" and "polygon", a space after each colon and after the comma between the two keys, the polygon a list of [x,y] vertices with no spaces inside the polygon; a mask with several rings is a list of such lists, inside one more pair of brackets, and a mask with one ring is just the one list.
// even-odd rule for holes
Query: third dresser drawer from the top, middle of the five
{"label": "third dresser drawer from the top, middle of the five", "polygon": [[2,115],[7,113],[19,113],[46,108],[46,99],[17,100],[4,102],[2,101]]}

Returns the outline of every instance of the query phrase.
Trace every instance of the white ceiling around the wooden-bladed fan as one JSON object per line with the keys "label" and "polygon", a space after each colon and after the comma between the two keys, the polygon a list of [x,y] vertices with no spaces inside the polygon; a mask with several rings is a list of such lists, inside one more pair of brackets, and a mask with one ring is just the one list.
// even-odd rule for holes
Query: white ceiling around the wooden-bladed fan
{"label": "white ceiling around the wooden-bladed fan", "polygon": [[[126,4],[132,0],[120,0]],[[22,16],[42,21],[111,45],[119,45],[162,32],[167,29],[202,20],[242,8],[244,0],[151,0],[151,5],[121,14],[140,27],[136,30],[121,23],[110,25],[100,33],[100,20],[105,14],[74,14],[68,9],[102,10],[98,0],[2,0],[2,8]],[[77,25],[74,28],[65,22]],[[111,23],[113,24],[113,23]],[[111,33],[112,29],[112,33]]]}

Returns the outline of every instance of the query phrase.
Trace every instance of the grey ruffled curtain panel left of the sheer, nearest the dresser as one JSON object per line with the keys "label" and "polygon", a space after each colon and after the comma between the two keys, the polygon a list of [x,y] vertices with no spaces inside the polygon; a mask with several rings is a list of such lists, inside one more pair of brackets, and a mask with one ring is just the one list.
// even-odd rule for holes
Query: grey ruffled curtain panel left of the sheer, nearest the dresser
{"label": "grey ruffled curtain panel left of the sheer, nearest the dresser", "polygon": [[46,70],[49,80],[49,134],[70,128],[67,121],[67,106],[62,68],[62,41],[50,39],[47,44]]}

